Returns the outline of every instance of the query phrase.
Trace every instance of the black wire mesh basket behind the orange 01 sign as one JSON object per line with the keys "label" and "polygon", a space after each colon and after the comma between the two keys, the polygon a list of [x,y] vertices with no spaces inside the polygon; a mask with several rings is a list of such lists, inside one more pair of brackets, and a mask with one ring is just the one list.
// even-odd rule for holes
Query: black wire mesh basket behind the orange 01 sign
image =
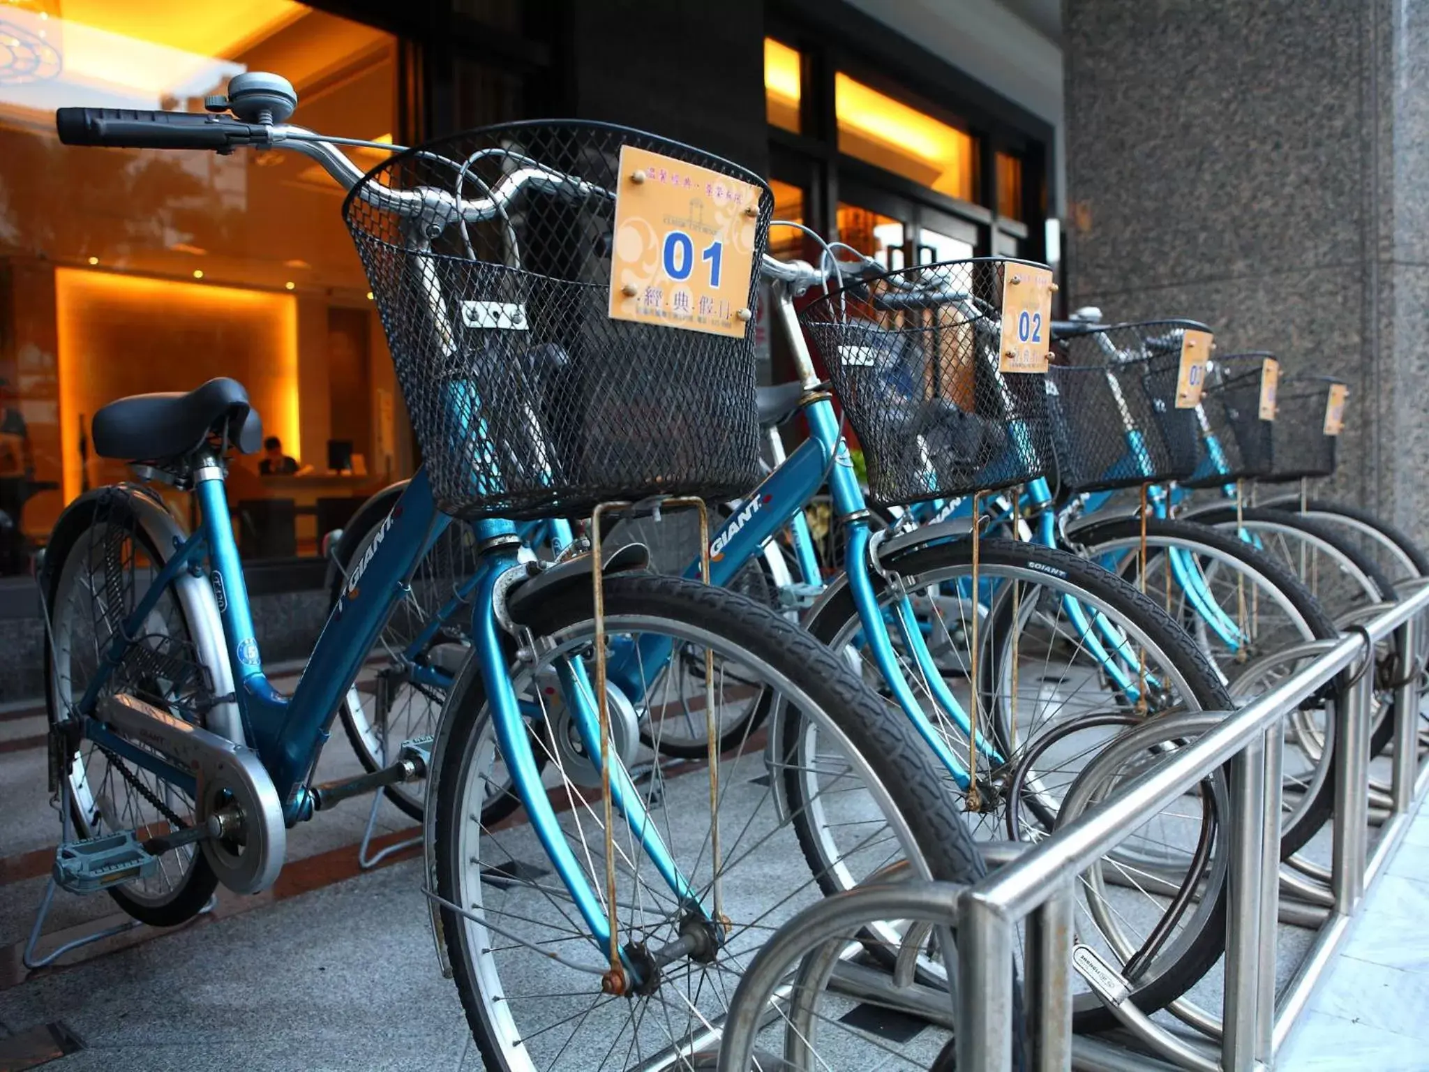
{"label": "black wire mesh basket behind the orange 01 sign", "polygon": [[[759,480],[753,333],[609,316],[623,146],[756,187],[753,309],[767,184],[654,134],[483,127],[386,160],[343,203],[446,513],[580,516],[612,499],[736,497]],[[519,174],[530,180],[516,189]],[[503,183],[516,193],[486,220],[459,220],[436,194],[490,199]],[[423,192],[432,207],[400,214],[393,192]]]}

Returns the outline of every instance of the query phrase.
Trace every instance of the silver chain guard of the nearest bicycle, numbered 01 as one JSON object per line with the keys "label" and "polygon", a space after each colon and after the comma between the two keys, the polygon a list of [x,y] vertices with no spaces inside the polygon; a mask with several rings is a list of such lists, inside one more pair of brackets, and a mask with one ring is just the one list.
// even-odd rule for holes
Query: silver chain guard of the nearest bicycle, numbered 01
{"label": "silver chain guard of the nearest bicycle, numbered 01", "polygon": [[287,852],[287,828],[273,780],[253,749],[127,693],[101,702],[101,720],[194,773],[194,833],[183,838],[197,840],[219,882],[236,893],[273,885]]}

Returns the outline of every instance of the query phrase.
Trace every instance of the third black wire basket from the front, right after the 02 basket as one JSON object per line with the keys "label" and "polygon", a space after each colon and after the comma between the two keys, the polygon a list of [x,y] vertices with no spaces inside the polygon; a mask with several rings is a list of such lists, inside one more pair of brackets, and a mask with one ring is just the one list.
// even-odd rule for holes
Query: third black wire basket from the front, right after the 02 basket
{"label": "third black wire basket from the front, right after the 02 basket", "polygon": [[1069,492],[1109,492],[1190,476],[1195,409],[1176,409],[1182,340],[1193,320],[1089,327],[1056,340],[1047,412],[1057,477]]}

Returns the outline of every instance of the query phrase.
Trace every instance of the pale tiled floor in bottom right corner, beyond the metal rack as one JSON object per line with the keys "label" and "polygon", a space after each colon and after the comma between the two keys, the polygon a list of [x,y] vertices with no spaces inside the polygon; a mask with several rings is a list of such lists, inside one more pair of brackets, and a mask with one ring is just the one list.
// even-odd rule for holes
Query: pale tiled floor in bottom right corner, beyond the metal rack
{"label": "pale tiled floor in bottom right corner, beyond the metal rack", "polygon": [[1370,888],[1278,1072],[1429,1069],[1429,810]]}

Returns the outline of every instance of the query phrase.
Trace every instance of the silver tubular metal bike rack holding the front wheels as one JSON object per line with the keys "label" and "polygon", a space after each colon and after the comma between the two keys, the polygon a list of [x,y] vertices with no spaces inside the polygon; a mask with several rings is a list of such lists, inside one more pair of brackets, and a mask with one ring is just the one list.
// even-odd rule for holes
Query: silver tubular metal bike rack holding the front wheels
{"label": "silver tubular metal bike rack holding the front wheels", "polygon": [[[960,1072],[1012,1072],[1015,1029],[1013,943],[1025,926],[1023,995],[1030,1038],[1027,1068],[1036,1072],[1082,1069],[1186,1068],[1198,1072],[1253,1072],[1273,1065],[1325,969],[1345,939],[1366,883],[1395,850],[1415,799],[1429,783],[1418,768],[1419,679],[1396,683],[1393,779],[1389,809],[1373,853],[1368,852],[1369,732],[1373,708],[1372,645],[1396,633],[1399,650],[1418,646],[1422,616],[1429,610],[1429,582],[1402,586],[1402,602],[1385,607],[1363,632],[1332,643],[1283,682],[1206,730],[1166,762],[1147,770],[1046,840],[1010,859],[970,888],[945,883],[877,885],[829,898],[782,928],[750,965],[729,1012],[720,1048],[722,1072],[749,1068],[752,1028],[767,1021],[772,1002],[787,1003],[780,983],[803,961],[802,976],[817,946],[846,936],[857,922],[909,918],[933,926],[956,928],[956,998],[943,995],[942,1016],[919,1015],[956,1025]],[[1369,649],[1366,649],[1369,645]],[[1335,705],[1335,813],[1328,912],[1315,945],[1290,983],[1278,996],[1275,986],[1276,922],[1280,915],[1280,748],[1288,709],[1340,675]],[[1180,716],[1166,716],[1167,722]],[[1198,716],[1186,716],[1200,718]],[[1230,815],[1226,912],[1226,986],[1219,1046],[1192,1042],[1152,1022],[1130,1002],[1109,1002],[1149,1052],[1125,1049],[1102,1039],[1073,1036],[1072,982],[1077,876],[1129,838],[1139,820],[1153,813],[1229,763]],[[900,915],[902,913],[902,915]],[[1306,920],[1309,922],[1309,920]],[[822,979],[829,982],[827,975]],[[839,985],[835,979],[833,985]],[[927,1005],[927,995],[900,993],[897,979],[865,981],[866,999],[907,1008]],[[1103,999],[1106,1001],[1106,999]],[[956,1005],[953,1005],[956,1002]]]}

